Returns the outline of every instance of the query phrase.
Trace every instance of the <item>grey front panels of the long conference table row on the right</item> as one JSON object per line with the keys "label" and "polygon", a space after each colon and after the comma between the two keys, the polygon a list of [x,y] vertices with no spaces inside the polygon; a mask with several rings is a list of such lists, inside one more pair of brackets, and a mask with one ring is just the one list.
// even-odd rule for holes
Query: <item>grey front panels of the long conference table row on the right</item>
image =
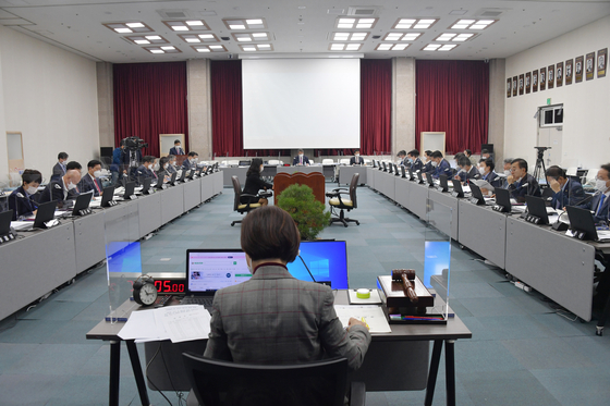
{"label": "grey front panels of the long conference table row on the right", "polygon": [[583,320],[591,319],[596,250],[610,253],[610,244],[583,242],[377,168],[367,168],[367,180],[371,189],[424,221],[428,202],[451,208],[451,237],[460,245]]}

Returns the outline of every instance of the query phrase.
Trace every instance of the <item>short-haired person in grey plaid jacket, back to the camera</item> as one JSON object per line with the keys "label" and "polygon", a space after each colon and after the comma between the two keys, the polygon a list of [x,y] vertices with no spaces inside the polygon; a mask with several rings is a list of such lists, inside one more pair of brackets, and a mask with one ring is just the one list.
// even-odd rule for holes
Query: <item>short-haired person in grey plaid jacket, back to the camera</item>
{"label": "short-haired person in grey plaid jacket, back to the camera", "polygon": [[253,276],[216,292],[205,357],[260,365],[344,357],[350,369],[361,367],[370,333],[354,318],[343,329],[329,286],[290,274],[300,243],[296,224],[276,206],[244,218],[241,244]]}

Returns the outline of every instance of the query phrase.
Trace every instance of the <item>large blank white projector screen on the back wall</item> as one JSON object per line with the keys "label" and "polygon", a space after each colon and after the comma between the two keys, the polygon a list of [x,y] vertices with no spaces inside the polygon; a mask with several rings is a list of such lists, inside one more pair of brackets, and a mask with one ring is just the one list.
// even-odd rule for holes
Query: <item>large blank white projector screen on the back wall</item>
{"label": "large blank white projector screen on the back wall", "polygon": [[359,148],[361,61],[242,61],[245,149]]}

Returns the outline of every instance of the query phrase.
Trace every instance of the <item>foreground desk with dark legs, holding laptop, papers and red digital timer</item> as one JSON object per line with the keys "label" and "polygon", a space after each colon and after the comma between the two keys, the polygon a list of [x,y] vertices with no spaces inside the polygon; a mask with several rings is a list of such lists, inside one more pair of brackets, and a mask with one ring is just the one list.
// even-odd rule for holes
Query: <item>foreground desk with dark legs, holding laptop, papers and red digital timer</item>
{"label": "foreground desk with dark legs, holding laptop, papers and red digital timer", "polygon": [[[347,294],[339,291],[337,305],[347,305]],[[437,295],[436,306],[443,305]],[[127,312],[134,308],[126,300],[121,309]],[[123,324],[100,321],[87,333],[87,340],[110,342],[110,399],[118,405],[121,339],[118,336]],[[447,325],[391,324],[389,334],[373,334],[373,341],[361,369],[350,376],[353,381],[365,382],[366,390],[375,391],[420,391],[426,390],[425,405],[431,405],[440,365],[442,345],[446,346],[447,404],[455,405],[454,342],[471,339],[471,331],[459,317],[450,318]],[[429,344],[434,342],[431,359]],[[169,341],[145,344],[149,383],[158,390],[188,391],[190,384],[182,364],[183,352],[203,354],[207,340],[172,344]],[[134,378],[141,402],[148,405],[148,393],[139,362],[137,348],[133,341],[125,342],[134,369]],[[160,348],[159,348],[160,346]],[[155,357],[158,350],[162,356]]]}

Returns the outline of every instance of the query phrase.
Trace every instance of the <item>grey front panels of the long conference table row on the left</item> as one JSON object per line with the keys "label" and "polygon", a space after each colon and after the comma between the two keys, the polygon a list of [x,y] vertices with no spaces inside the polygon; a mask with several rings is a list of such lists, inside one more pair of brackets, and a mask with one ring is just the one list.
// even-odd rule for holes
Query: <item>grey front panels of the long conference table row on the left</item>
{"label": "grey front panels of the long conference table row on the left", "polygon": [[[138,241],[209,201],[223,187],[222,173],[216,172],[88,216],[61,219],[51,229],[17,231],[16,239],[0,245],[0,320],[105,260],[106,235]],[[136,224],[126,226],[130,219]]]}

